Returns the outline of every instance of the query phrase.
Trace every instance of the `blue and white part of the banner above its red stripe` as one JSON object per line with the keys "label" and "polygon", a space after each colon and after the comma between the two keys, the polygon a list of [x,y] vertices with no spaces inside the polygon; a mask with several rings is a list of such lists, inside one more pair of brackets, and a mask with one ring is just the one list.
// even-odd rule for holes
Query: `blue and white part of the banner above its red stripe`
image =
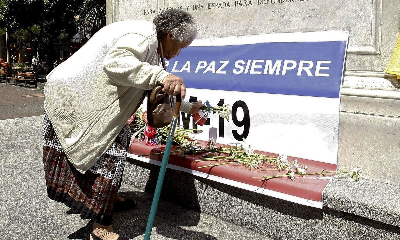
{"label": "blue and white part of the banner above its red stripe", "polygon": [[229,122],[212,114],[196,138],[215,127],[219,143],[246,138],[257,150],[336,164],[347,40],[347,31],[197,39],[167,71],[184,79],[186,100],[232,107]]}

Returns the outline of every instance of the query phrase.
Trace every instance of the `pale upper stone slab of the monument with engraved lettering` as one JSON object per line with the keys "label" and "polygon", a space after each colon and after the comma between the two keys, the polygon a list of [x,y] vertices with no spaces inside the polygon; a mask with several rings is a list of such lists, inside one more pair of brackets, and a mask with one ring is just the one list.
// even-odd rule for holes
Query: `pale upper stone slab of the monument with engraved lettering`
{"label": "pale upper stone slab of the monument with engraved lettering", "polygon": [[378,54],[380,4],[381,0],[120,0],[118,20],[152,20],[166,8],[179,8],[194,15],[200,38],[343,29],[350,30],[350,54]]}

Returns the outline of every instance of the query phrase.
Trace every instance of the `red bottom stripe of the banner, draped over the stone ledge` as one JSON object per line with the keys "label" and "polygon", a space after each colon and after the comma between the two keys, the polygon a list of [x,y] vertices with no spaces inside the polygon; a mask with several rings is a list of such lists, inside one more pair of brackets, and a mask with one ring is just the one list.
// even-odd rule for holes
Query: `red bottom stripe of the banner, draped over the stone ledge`
{"label": "red bottom stripe of the banner, draped over the stone ledge", "polygon": [[[221,144],[217,144],[217,146],[218,145]],[[164,152],[164,148],[165,145],[152,147],[152,146],[146,146],[145,142],[140,142],[140,143],[132,142],[129,152],[135,155],[144,155],[157,152]],[[255,151],[255,152],[269,156],[278,156],[278,154],[273,154],[269,152],[261,152],[261,151]],[[144,156],[144,157],[157,161],[162,160],[162,154]],[[259,169],[252,168],[249,170],[248,167],[242,164],[239,165],[237,163],[225,164],[221,166],[214,166],[207,168],[198,168],[200,166],[207,166],[210,164],[218,164],[224,162],[224,161],[196,162],[196,160],[199,160],[200,157],[201,157],[200,155],[186,155],[186,158],[183,159],[179,154],[171,153],[168,163],[183,168],[188,168],[191,170],[203,172],[206,174],[211,174],[221,178],[226,178],[237,182],[242,182],[245,184],[250,184],[252,186],[256,186],[259,188],[265,188],[268,190],[273,190],[276,192],[281,192],[284,194],[318,202],[322,202],[322,192],[330,182],[330,180],[328,179],[316,179],[315,177],[318,177],[318,175],[310,175],[307,176],[306,178],[296,177],[295,181],[292,181],[290,178],[287,177],[273,178],[266,181],[260,181],[262,176],[280,175],[280,174],[285,174],[285,172],[275,170],[274,168],[268,166],[262,166]],[[294,157],[288,156],[289,162],[292,162],[293,159]],[[303,158],[296,158],[296,159],[298,160],[298,164],[308,166],[307,170],[308,173],[322,172],[324,169],[325,171],[336,171],[335,164],[318,162]],[[268,170],[262,171],[266,169]]]}

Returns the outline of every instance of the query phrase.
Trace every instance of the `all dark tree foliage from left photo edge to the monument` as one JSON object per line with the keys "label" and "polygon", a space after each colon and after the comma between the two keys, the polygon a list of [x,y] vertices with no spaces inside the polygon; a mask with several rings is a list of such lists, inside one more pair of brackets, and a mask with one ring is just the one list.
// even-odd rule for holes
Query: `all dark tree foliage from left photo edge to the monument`
{"label": "all dark tree foliage from left photo edge to the monument", "polygon": [[106,0],[0,0],[0,35],[5,29],[18,41],[38,42],[51,70],[54,42],[78,30],[92,35],[106,25]]}

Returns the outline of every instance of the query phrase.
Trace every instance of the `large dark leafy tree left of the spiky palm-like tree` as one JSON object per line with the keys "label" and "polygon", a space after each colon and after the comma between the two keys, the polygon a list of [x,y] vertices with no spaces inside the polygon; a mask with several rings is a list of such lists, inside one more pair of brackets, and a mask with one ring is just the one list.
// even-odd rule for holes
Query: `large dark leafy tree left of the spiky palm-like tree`
{"label": "large dark leafy tree left of the spiky palm-like tree", "polygon": [[28,32],[47,53],[48,67],[56,61],[54,42],[76,33],[80,0],[0,0],[0,27],[8,32]]}

